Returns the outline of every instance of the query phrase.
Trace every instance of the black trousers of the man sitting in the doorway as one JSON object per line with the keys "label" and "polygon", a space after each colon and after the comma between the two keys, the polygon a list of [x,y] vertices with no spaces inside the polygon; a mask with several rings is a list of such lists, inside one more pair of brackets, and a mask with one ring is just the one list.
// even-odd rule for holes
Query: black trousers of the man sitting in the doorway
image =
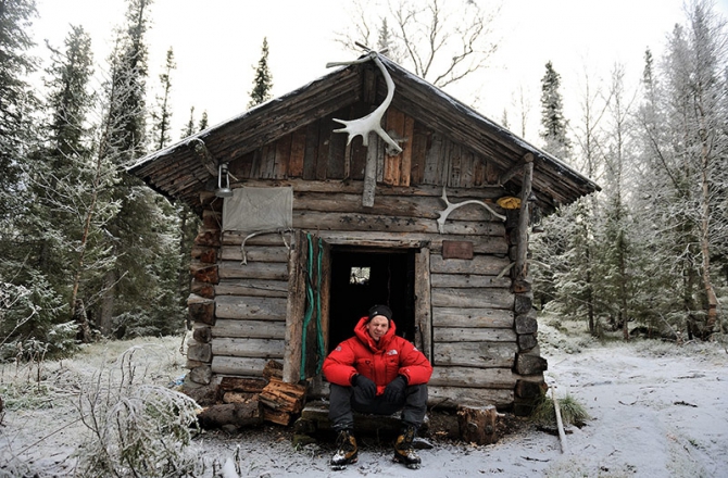
{"label": "black trousers of the man sitting in the doorway", "polygon": [[404,398],[399,403],[389,403],[381,395],[367,400],[356,387],[330,385],[328,417],[336,430],[353,428],[353,412],[391,415],[400,410],[402,422],[419,428],[427,413],[427,385],[407,386]]}

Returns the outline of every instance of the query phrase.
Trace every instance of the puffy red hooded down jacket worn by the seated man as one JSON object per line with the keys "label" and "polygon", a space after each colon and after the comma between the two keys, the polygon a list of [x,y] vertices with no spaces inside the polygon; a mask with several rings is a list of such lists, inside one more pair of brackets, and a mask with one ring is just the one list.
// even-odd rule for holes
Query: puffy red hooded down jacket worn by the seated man
{"label": "puffy red hooded down jacket worn by the seated man", "polygon": [[331,383],[350,387],[351,379],[362,374],[377,385],[377,395],[387,383],[403,375],[409,385],[427,383],[432,366],[412,342],[396,336],[397,327],[390,320],[389,330],[376,343],[366,331],[366,316],[354,327],[354,337],[344,340],[326,357],[324,376]]}

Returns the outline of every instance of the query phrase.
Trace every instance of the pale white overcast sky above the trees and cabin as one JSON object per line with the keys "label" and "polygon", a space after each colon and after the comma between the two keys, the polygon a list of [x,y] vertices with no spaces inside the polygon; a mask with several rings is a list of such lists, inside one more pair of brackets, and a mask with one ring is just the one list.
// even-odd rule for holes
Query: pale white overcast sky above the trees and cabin
{"label": "pale white overcast sky above the trees and cabin", "polygon": [[[504,109],[511,110],[511,127],[520,134],[512,102],[523,89],[532,109],[525,136],[532,142],[537,141],[540,80],[548,61],[562,76],[567,117],[574,123],[586,72],[592,81],[606,79],[619,62],[628,80],[636,81],[645,49],[660,56],[673,26],[685,22],[682,0],[503,3],[497,32],[499,52],[491,67],[472,77],[474,83],[463,87],[467,90],[450,92],[473,104],[477,84],[474,105],[494,121],[502,118]],[[352,53],[334,41],[335,32],[350,22],[349,4],[350,0],[154,0],[147,36],[149,85],[159,85],[158,75],[172,47],[177,63],[172,77],[173,138],[178,139],[190,106],[196,108],[197,118],[206,110],[212,124],[247,109],[263,37],[268,40],[275,96],[325,75],[327,62],[353,60]],[[70,25],[83,25],[91,35],[96,61],[105,67],[113,28],[124,22],[125,0],[37,0],[37,5],[40,17],[34,21],[34,38],[39,46],[46,39],[62,46]],[[716,9],[728,17],[728,0],[717,0]]]}

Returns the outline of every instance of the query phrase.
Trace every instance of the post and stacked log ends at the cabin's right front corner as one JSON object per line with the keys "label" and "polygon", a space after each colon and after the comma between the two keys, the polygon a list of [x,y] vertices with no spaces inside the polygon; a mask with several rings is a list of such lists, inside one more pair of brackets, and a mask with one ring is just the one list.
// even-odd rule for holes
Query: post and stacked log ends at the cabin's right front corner
{"label": "post and stacked log ends at the cabin's right front corner", "polygon": [[523,161],[520,207],[507,210],[505,222],[509,257],[514,263],[514,267],[511,268],[511,279],[515,294],[514,328],[518,341],[514,373],[520,376],[516,380],[514,390],[513,413],[519,416],[530,415],[538,398],[544,393],[543,372],[548,368],[548,363],[541,357],[538,347],[538,323],[534,309],[531,279],[528,274],[528,223],[532,176],[534,156],[526,154]]}

